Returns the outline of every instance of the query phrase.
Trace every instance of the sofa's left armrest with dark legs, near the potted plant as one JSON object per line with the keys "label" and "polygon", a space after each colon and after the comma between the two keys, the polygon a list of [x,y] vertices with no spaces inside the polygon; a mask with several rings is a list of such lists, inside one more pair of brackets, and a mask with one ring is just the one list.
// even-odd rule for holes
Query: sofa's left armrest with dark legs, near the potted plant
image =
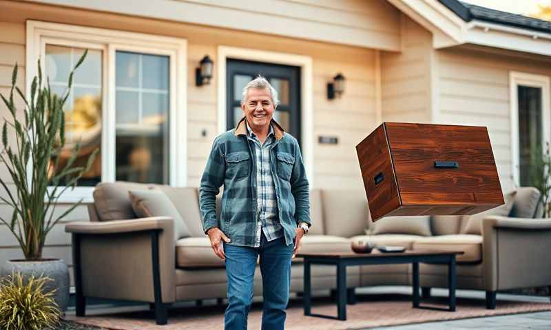
{"label": "sofa's left armrest with dark legs, near the potted plant", "polygon": [[76,295],[172,303],[174,219],[147,217],[65,225],[72,233]]}

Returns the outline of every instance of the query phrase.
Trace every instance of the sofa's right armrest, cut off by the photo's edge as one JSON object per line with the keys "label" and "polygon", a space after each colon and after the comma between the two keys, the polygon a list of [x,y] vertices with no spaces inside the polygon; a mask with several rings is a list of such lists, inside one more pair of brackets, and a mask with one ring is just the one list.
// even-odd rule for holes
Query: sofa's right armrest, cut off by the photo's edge
{"label": "sofa's right armrest, cut off by the photo's edge", "polygon": [[551,285],[551,220],[488,216],[482,235],[486,290]]}

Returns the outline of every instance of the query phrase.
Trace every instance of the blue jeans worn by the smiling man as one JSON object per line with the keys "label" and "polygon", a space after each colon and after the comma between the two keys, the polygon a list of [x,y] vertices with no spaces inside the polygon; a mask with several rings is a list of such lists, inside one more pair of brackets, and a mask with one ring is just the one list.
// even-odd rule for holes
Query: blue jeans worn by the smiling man
{"label": "blue jeans worn by the smiling man", "polygon": [[226,254],[228,307],[224,315],[226,330],[247,330],[247,316],[253,300],[253,277],[260,255],[262,274],[262,330],[283,330],[291,287],[291,256],[294,243],[284,237],[267,241],[264,232],[260,247],[238,246],[222,241]]}

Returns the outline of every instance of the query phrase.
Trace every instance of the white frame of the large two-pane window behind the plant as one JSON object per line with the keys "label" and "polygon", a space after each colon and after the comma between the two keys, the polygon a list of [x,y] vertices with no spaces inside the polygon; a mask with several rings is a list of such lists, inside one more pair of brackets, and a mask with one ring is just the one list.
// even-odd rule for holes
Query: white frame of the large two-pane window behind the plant
{"label": "white frame of the large two-pane window behind the plant", "polygon": [[[169,56],[169,184],[187,184],[187,40],[154,34],[123,32],[79,25],[27,21],[25,94],[30,98],[37,61],[45,63],[45,44],[87,47],[103,51],[101,181],[115,180],[115,52],[117,50]],[[42,72],[45,72],[42,70]],[[32,168],[28,168],[32,170]],[[94,187],[67,189],[60,203],[93,201]],[[59,191],[59,190],[58,190]]]}

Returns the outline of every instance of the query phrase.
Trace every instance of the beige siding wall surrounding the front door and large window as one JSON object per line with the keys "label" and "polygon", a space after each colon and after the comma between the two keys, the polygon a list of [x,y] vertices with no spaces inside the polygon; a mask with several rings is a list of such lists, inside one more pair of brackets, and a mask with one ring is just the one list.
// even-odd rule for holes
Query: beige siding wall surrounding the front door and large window
{"label": "beige siding wall surrounding the front door and large window", "polygon": [[[297,1],[308,3],[309,1]],[[360,5],[359,1],[349,1]],[[333,2],[326,1],[322,7],[331,8]],[[392,8],[391,8],[392,9]],[[196,87],[194,69],[205,54],[218,63],[218,45],[245,47],[273,52],[286,52],[311,56],[313,59],[313,122],[314,173],[313,185],[320,188],[361,188],[360,168],[357,165],[355,145],[375,127],[375,51],[315,41],[291,39],[252,32],[241,32],[170,21],[155,21],[138,17],[90,12],[70,8],[59,8],[37,3],[0,1],[0,28],[9,34],[0,34],[0,91],[6,93],[10,84],[11,68],[14,62],[24,65],[25,21],[27,19],[70,23],[92,27],[127,30],[149,34],[162,33],[187,39],[188,42],[188,184],[198,186],[200,175],[209,155],[212,141],[216,137],[218,108],[217,81],[210,85]],[[22,67],[24,69],[24,66]],[[326,84],[337,72],[346,77],[346,91],[342,98],[326,99]],[[23,72],[21,72],[24,74]],[[216,73],[216,69],[215,69]],[[23,79],[24,76],[22,75]],[[24,80],[21,80],[23,83]],[[24,86],[21,85],[21,88]],[[22,104],[18,107],[21,109]],[[0,106],[2,115],[5,108]],[[202,132],[205,131],[205,136]],[[318,136],[331,135],[339,139],[336,145],[318,144]],[[8,182],[5,168],[0,168],[0,177]],[[0,196],[6,193],[0,190]],[[62,205],[61,208],[68,207]],[[9,206],[0,204],[0,217],[10,217]],[[85,206],[73,212],[63,221],[87,220]],[[63,258],[71,265],[70,235],[59,223],[48,236],[45,256]],[[0,226],[0,265],[6,259],[20,258],[17,242],[10,236],[8,228]]]}

